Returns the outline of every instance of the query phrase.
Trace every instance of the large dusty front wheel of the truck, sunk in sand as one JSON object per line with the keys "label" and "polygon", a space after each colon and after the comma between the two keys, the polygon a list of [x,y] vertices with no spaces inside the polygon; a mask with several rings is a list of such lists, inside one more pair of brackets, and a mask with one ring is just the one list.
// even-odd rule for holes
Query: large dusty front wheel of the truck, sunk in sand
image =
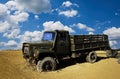
{"label": "large dusty front wheel of the truck, sunk in sand", "polygon": [[53,71],[56,69],[56,61],[52,57],[45,57],[43,60],[39,60],[37,63],[38,72]]}

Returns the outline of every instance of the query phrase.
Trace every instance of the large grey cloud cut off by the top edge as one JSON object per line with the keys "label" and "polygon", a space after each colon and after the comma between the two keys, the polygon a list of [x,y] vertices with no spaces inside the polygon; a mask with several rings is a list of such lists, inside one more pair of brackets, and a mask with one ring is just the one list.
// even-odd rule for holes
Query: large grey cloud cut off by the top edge
{"label": "large grey cloud cut off by the top edge", "polygon": [[14,0],[25,10],[38,14],[41,12],[49,12],[51,9],[50,0]]}

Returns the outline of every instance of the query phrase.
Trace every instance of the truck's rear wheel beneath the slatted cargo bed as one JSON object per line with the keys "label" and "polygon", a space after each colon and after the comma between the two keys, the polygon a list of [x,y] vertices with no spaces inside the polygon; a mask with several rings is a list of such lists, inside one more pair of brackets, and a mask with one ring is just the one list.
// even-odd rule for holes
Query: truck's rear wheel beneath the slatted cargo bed
{"label": "truck's rear wheel beneath the slatted cargo bed", "polygon": [[87,56],[86,56],[86,61],[89,63],[94,63],[97,61],[97,54],[95,53],[95,51],[90,52]]}

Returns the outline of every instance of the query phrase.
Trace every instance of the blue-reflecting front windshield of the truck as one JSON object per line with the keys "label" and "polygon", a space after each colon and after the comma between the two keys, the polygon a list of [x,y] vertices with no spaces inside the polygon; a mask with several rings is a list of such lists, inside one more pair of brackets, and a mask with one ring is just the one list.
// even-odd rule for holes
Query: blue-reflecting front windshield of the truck
{"label": "blue-reflecting front windshield of the truck", "polygon": [[55,33],[54,32],[44,32],[43,34],[43,41],[53,41],[55,37]]}

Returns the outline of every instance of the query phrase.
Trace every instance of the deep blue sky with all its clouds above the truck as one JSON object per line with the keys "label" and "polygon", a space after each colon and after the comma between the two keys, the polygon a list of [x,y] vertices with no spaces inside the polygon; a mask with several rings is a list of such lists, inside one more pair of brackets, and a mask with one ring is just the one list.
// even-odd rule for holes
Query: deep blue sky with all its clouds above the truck
{"label": "deep blue sky with all its clouds above the truck", "polygon": [[120,48],[120,0],[0,0],[0,50],[20,49],[55,29],[107,34]]}

